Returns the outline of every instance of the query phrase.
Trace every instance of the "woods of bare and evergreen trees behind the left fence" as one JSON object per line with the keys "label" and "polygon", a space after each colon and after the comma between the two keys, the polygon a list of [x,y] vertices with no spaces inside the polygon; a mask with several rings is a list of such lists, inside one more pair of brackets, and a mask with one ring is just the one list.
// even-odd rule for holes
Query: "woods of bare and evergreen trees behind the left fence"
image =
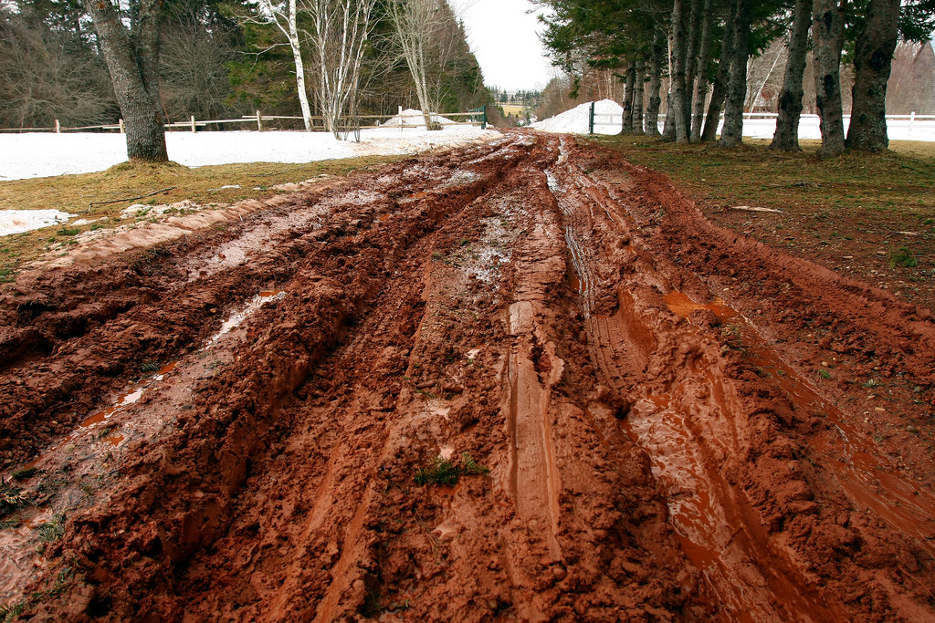
{"label": "woods of bare and evergreen trees behind the left fence", "polygon": [[[397,106],[446,113],[489,98],[464,27],[445,0],[121,4],[0,5],[0,127],[50,127],[55,120],[79,127],[127,117],[95,10],[125,29],[137,66],[157,65],[157,78],[142,81],[155,87],[165,121],[237,119],[261,109],[324,116],[335,130]],[[108,11],[116,22],[107,22]],[[156,50],[141,45],[153,37],[145,23],[151,19],[158,21]]]}

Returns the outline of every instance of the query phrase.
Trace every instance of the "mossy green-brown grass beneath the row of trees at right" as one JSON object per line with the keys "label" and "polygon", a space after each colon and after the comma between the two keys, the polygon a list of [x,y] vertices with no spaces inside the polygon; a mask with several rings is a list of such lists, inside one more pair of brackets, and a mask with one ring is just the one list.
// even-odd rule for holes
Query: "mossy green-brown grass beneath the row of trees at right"
{"label": "mossy green-brown grass beneath the row of trees at right", "polygon": [[912,215],[920,226],[935,214],[935,143],[891,141],[883,154],[847,152],[818,161],[819,141],[802,151],[768,149],[770,141],[745,139],[740,149],[711,144],[676,145],[654,138],[601,136],[598,145],[620,151],[631,163],[666,173],[713,205],[829,208]]}

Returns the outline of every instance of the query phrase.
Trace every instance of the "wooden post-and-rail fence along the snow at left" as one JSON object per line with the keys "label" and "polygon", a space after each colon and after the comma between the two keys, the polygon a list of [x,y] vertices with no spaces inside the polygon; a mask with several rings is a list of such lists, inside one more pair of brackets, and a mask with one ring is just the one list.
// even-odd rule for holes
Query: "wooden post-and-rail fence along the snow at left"
{"label": "wooden post-and-rail fence along the snow at left", "polygon": [[[481,108],[472,109],[469,112],[453,112],[447,114],[441,114],[437,112],[428,113],[430,119],[433,123],[437,123],[439,126],[447,125],[480,125],[482,129],[486,128],[487,125],[487,108],[482,106]],[[398,123],[393,123],[392,125],[387,125],[386,121],[396,120]],[[414,122],[408,122],[407,120],[415,120]],[[446,119],[445,121],[439,121],[439,119]],[[457,120],[464,119],[464,120]],[[294,117],[288,115],[264,115],[259,110],[252,115],[244,115],[240,119],[211,119],[211,120],[196,120],[191,117],[187,121],[172,121],[170,123],[165,123],[164,127],[166,130],[172,131],[175,129],[187,129],[191,132],[197,132],[198,129],[209,129],[210,125],[223,123],[247,123],[250,125],[255,125],[257,131],[264,130],[279,130],[276,127],[266,126],[264,127],[264,121],[268,120],[304,120],[303,117]],[[375,120],[375,123],[363,124],[360,121],[362,120]],[[382,123],[380,122],[382,120]],[[424,126],[425,116],[423,113],[419,114],[402,114],[402,110],[395,115],[359,115],[351,118],[351,122],[348,120],[342,120],[343,123],[338,127],[338,131],[342,132],[353,132],[357,130],[365,129],[374,129],[374,128],[385,128],[385,129],[395,129],[395,128],[417,128]],[[324,117],[321,115],[314,115],[309,117],[309,123],[311,125],[310,130],[313,132],[329,132],[327,129]],[[104,130],[104,131],[119,131],[121,134],[125,132],[125,127],[123,120],[119,120],[117,123],[106,123],[103,125],[82,125],[77,127],[64,127],[59,123],[59,120],[55,120],[55,125],[49,128],[0,128],[0,132],[10,132],[10,133],[24,133],[24,132],[53,132],[56,134],[61,134],[64,132],[80,132],[84,130]]]}

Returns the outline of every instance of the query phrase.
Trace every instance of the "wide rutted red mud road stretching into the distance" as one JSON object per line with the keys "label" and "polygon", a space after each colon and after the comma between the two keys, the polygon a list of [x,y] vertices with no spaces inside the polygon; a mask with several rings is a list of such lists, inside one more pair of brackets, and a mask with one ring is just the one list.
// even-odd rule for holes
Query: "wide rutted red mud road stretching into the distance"
{"label": "wide rutted red mud road stretching into the distance", "polygon": [[[0,589],[65,578],[41,617],[935,616],[904,431],[930,314],[570,138],[355,175],[2,303],[4,457],[37,472]],[[871,419],[831,356],[908,406]],[[465,453],[489,473],[414,482]]]}

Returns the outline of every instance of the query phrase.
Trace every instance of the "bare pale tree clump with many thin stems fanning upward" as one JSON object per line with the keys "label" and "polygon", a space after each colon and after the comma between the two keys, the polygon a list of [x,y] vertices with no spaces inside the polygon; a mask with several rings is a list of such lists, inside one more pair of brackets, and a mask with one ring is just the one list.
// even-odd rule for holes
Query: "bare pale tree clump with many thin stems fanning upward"
{"label": "bare pale tree clump with many thin stems fanning upward", "polygon": [[376,0],[309,0],[316,96],[325,128],[340,139],[341,119],[356,115],[361,65]]}

